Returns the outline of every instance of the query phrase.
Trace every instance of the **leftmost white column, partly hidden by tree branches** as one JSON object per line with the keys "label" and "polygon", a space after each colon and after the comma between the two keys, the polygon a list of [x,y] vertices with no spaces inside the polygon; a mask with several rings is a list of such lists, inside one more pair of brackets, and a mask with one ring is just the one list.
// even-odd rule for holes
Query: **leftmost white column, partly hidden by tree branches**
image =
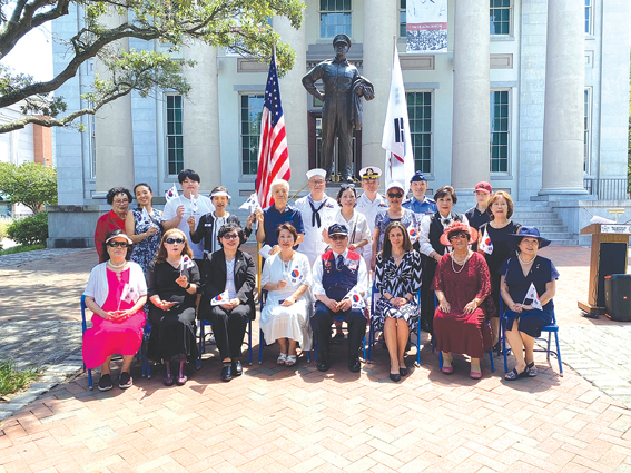
{"label": "leftmost white column, partly hidden by tree branches", "polygon": [[[103,18],[106,28],[116,28],[127,21],[127,14]],[[128,50],[129,40],[121,39],[109,46],[112,51]],[[95,75],[110,79],[105,65],[95,59]],[[131,93],[103,106],[95,116],[97,154],[97,194],[105,195],[117,186],[134,187],[134,138],[131,126]]]}

